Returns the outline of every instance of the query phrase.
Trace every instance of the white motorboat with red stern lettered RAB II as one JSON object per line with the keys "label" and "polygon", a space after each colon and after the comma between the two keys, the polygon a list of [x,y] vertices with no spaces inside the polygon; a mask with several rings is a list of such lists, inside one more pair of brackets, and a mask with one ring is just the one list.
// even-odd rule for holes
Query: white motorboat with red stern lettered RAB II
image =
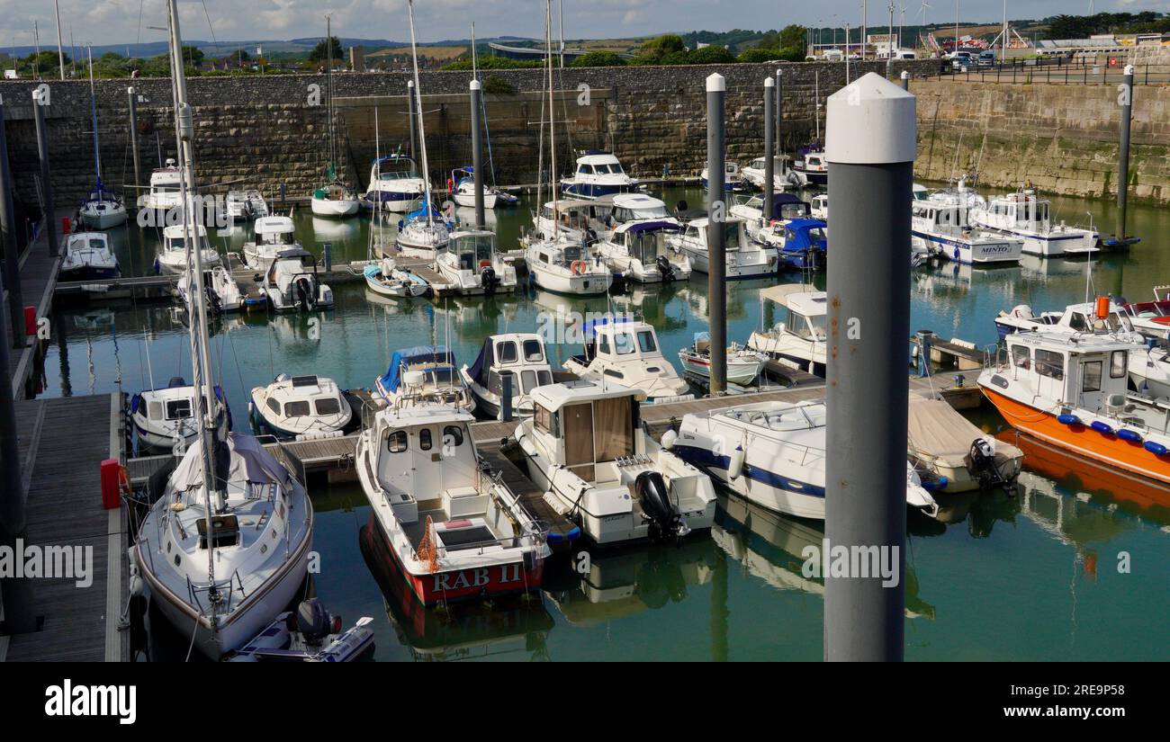
{"label": "white motorboat with red stern lettered RAB II", "polygon": [[394,405],[358,437],[370,531],[424,605],[538,590],[551,553],[546,529],[480,460],[473,422],[447,405]]}

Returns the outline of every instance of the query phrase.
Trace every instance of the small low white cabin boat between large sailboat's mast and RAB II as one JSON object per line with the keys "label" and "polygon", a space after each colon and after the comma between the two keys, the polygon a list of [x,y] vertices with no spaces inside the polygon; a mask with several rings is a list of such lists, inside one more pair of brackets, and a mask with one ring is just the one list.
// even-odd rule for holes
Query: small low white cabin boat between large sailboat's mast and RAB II
{"label": "small low white cabin boat between large sailboat's mast and RAB II", "polygon": [[360,422],[355,404],[332,379],[281,374],[267,387],[253,388],[248,415],[256,435],[277,441],[339,438]]}

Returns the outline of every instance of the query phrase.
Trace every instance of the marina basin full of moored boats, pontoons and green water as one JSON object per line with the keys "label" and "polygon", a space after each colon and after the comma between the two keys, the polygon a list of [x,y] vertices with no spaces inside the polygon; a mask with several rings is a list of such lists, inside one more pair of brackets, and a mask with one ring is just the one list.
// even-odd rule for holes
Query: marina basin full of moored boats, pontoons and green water
{"label": "marina basin full of moored boats, pontoons and green water", "polygon": [[[335,102],[323,44],[328,150],[296,194],[205,175],[174,0],[147,183],[111,185],[90,79],[90,197],[46,190],[22,251],[5,230],[0,419],[5,534],[89,571],[5,575],[0,661],[1170,659],[1166,209],[990,186],[978,161],[917,179],[896,126],[872,139],[909,155],[846,151],[851,90],[913,124],[876,60],[813,78],[799,146],[765,72],[738,160],[706,76],[707,168],[658,178],[560,140],[584,134],[545,6],[535,187],[484,161],[477,67],[460,93],[420,75],[411,0],[407,146],[388,106]],[[472,111],[466,160],[440,97]],[[350,125],[376,141],[360,168]],[[810,571],[866,533],[904,549],[868,603]]]}

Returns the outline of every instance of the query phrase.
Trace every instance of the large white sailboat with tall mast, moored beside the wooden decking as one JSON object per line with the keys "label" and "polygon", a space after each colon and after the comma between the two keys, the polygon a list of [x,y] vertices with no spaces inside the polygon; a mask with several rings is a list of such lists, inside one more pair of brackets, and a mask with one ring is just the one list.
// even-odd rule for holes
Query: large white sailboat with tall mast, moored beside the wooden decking
{"label": "large white sailboat with tall mast, moored beside the wooden decking", "polygon": [[[170,54],[179,139],[180,189],[194,188],[193,136],[183,72],[177,0],[167,0]],[[191,647],[219,659],[245,646],[297,596],[312,547],[312,504],[290,465],[256,438],[216,427],[195,215],[183,210],[193,261],[198,311],[191,313],[191,358],[198,437],[174,465],[131,549],[131,574]],[[214,402],[213,402],[214,401]],[[296,462],[285,456],[285,460]],[[301,467],[298,467],[301,469]],[[301,470],[303,472],[303,470]]]}

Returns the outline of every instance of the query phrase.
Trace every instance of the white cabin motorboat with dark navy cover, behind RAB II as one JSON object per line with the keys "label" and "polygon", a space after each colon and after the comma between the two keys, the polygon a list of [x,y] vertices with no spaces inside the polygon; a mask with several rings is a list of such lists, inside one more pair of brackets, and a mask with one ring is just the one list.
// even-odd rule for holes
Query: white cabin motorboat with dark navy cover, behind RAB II
{"label": "white cabin motorboat with dark navy cover, behind RAB II", "polygon": [[519,417],[532,414],[532,390],[552,383],[544,340],[534,332],[488,335],[475,362],[459,373],[488,417],[500,416],[505,379],[511,379],[511,410]]}

